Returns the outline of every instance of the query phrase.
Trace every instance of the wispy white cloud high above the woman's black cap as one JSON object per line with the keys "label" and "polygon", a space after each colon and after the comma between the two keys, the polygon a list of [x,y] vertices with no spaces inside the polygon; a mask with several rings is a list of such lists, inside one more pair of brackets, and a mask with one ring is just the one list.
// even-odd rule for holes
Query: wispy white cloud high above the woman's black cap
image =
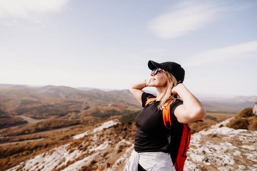
{"label": "wispy white cloud high above the woman's black cap", "polygon": [[193,3],[185,1],[176,4],[170,11],[148,22],[148,29],[161,39],[173,39],[203,28],[206,24],[233,11],[249,8],[249,4],[233,6],[221,3]]}

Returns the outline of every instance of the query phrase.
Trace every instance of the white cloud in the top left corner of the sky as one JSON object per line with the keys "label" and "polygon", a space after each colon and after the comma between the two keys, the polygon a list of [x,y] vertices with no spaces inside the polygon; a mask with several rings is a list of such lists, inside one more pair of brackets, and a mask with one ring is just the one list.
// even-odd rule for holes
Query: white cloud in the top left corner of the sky
{"label": "white cloud in the top left corner of the sky", "polygon": [[0,0],[0,19],[25,19],[38,22],[35,15],[58,12],[67,2],[68,0]]}

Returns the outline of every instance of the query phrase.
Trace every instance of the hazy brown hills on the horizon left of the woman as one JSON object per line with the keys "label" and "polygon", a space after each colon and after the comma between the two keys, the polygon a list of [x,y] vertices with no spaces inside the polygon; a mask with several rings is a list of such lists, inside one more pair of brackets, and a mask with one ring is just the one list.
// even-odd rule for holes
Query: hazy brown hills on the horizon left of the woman
{"label": "hazy brown hills on the horizon left of the woman", "polygon": [[53,85],[0,87],[0,109],[5,116],[24,115],[34,119],[70,115],[108,117],[141,109],[128,90],[83,91],[69,86]]}

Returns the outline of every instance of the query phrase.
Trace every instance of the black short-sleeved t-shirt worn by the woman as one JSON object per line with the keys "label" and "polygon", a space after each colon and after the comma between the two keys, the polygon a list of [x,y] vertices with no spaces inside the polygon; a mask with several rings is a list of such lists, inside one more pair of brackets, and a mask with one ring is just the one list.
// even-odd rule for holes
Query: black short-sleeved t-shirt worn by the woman
{"label": "black short-sleeved t-shirt worn by the woman", "polygon": [[[158,108],[160,101],[154,101],[145,107],[147,99],[152,97],[155,96],[145,92],[142,94],[142,107],[144,108],[136,118],[137,130],[134,148],[137,152],[163,151],[160,149],[168,144],[167,128],[164,126],[163,121],[163,111]],[[174,131],[175,129],[183,128],[183,124],[179,123],[174,115],[175,108],[181,104],[183,104],[183,101],[176,100],[170,105],[172,129]]]}

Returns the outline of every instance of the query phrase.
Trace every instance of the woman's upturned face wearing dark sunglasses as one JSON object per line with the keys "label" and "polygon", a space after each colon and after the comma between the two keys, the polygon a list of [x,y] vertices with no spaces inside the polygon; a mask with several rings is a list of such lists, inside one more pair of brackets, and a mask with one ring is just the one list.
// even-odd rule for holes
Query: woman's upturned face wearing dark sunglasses
{"label": "woman's upturned face wearing dark sunglasses", "polygon": [[160,68],[156,68],[151,72],[151,79],[149,86],[155,87],[165,87],[166,85],[166,78],[164,75],[164,71]]}

